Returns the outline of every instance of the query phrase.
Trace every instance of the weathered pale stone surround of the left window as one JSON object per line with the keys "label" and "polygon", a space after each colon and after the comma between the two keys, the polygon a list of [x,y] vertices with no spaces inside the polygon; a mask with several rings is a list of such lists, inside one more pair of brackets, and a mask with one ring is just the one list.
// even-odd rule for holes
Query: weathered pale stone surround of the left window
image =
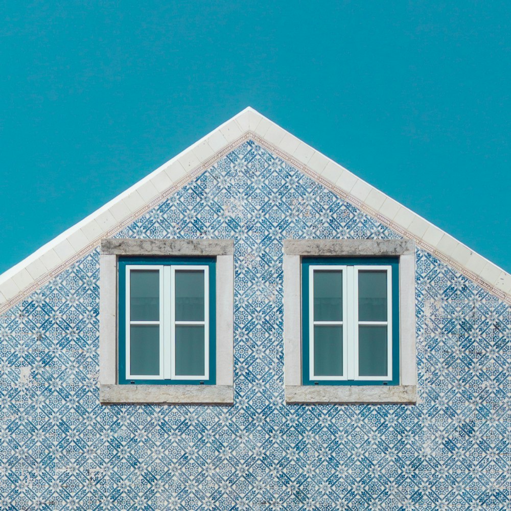
{"label": "weathered pale stone surround of the left window", "polygon": [[[216,385],[118,384],[118,260],[134,256],[215,256]],[[100,402],[110,404],[232,405],[234,403],[233,240],[107,238],[100,255]]]}

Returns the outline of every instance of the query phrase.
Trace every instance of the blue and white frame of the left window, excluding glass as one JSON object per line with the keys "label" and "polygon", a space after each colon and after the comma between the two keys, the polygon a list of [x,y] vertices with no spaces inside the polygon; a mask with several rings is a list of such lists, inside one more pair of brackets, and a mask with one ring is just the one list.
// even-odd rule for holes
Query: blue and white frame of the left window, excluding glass
{"label": "blue and white frame of the left window, excluding glass", "polygon": [[[120,257],[119,267],[119,384],[120,385],[214,385],[215,368],[215,309],[216,309],[216,259],[212,257]],[[175,321],[174,309],[167,307],[167,293],[171,293],[170,304],[174,303],[174,275],[176,268],[204,269],[205,272],[205,374],[177,377],[175,374]],[[160,371],[158,377],[145,378],[129,375],[129,272],[139,269],[158,269],[160,271]],[[123,307],[124,305],[124,307]],[[170,352],[170,353],[169,353]],[[167,363],[165,363],[167,360]],[[123,377],[125,375],[125,377]],[[134,383],[131,383],[134,382]]]}

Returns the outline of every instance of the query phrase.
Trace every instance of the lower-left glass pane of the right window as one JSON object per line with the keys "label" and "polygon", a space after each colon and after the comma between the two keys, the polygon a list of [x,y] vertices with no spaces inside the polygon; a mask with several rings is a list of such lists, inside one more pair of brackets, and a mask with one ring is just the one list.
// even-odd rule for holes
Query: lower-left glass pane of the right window
{"label": "lower-left glass pane of the right window", "polygon": [[314,327],[314,375],[342,376],[342,325]]}

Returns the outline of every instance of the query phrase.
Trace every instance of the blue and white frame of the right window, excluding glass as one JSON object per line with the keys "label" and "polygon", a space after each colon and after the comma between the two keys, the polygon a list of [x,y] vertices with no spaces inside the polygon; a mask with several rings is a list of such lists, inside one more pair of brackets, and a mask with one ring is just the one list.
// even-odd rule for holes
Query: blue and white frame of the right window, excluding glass
{"label": "blue and white frame of the right window, excluding glass", "polygon": [[[343,272],[343,375],[315,376],[313,272],[339,269]],[[358,272],[382,271],[387,276],[387,377],[358,375]],[[304,257],[301,259],[302,382],[303,385],[399,385],[399,259],[353,257]],[[351,299],[353,305],[351,304]],[[324,324],[323,321],[320,322]],[[331,322],[329,322],[331,323]],[[370,323],[375,323],[371,321]],[[382,323],[382,322],[378,322]],[[307,360],[309,363],[307,363]],[[317,382],[317,383],[316,383]]]}

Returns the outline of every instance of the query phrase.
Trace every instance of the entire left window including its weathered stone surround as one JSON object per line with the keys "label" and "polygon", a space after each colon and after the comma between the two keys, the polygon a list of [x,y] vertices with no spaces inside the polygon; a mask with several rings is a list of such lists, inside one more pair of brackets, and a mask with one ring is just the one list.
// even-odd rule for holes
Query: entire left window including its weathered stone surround
{"label": "entire left window including its weathered stone surround", "polygon": [[234,243],[102,240],[100,401],[232,404]]}

